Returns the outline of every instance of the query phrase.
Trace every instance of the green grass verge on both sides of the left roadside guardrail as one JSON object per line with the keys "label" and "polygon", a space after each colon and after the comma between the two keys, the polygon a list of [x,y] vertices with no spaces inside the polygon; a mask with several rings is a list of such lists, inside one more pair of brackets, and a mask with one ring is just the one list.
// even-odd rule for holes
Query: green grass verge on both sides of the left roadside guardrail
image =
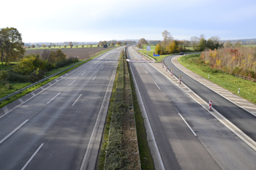
{"label": "green grass verge on both sides of the left roadside guardrail", "polygon": [[[113,50],[113,49],[108,49],[108,50]],[[107,52],[108,50],[104,50],[104,51],[100,52],[99,54],[94,55],[94,56],[91,57],[88,61],[91,61],[92,59],[96,58],[97,56],[101,55],[102,53]],[[84,62],[78,64],[77,66],[74,66],[74,67],[72,67],[71,69],[68,69],[67,71],[62,72],[61,74],[56,75],[55,77],[50,77],[50,79],[45,80],[45,82],[41,82],[40,84],[35,85],[34,87],[31,87],[31,88],[29,88],[29,89],[27,89],[27,90],[23,90],[22,93],[19,93],[19,94],[17,94],[16,96],[12,96],[12,97],[10,97],[9,99],[6,99],[5,101],[1,101],[1,103],[0,103],[0,108],[1,108],[1,107],[4,107],[4,106],[7,105],[7,104],[10,104],[12,101],[17,100],[18,98],[20,98],[20,97],[26,95],[27,93],[30,93],[31,91],[36,90],[37,88],[40,88],[42,85],[45,85],[45,84],[47,84],[48,82],[50,82],[50,81],[52,81],[52,80],[55,80],[56,78],[60,77],[61,75],[66,74],[66,73],[69,72],[70,70],[75,69],[75,68],[77,68],[78,66],[80,66],[80,65],[82,65],[83,63],[86,63],[86,62],[88,62],[88,61],[84,61]],[[59,72],[59,71],[61,71],[61,70],[63,70],[63,69],[67,69],[69,66],[72,66],[72,65],[73,65],[73,64],[69,64],[68,66],[64,66],[64,67],[61,67],[61,68],[59,68],[59,69],[54,69],[54,70],[52,70],[52,71],[50,71],[50,72],[46,72],[46,76],[50,76],[50,75],[52,75],[52,74],[55,74],[56,72]],[[11,67],[11,68],[12,68],[12,67]],[[7,89],[6,87],[0,85],[0,98],[3,98],[4,96],[7,96],[7,95],[9,95],[9,94],[11,94],[11,93],[14,93],[15,91],[20,90],[21,88],[25,88],[26,86],[31,85],[31,84],[32,84],[31,82],[12,82],[12,89],[11,89],[11,90],[9,90],[9,89]]]}

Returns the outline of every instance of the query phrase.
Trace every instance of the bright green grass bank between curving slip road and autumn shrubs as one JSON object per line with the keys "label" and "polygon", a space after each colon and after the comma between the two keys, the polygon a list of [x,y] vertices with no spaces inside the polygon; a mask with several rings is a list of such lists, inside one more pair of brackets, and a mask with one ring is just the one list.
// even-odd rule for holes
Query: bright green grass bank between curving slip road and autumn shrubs
{"label": "bright green grass bank between curving slip road and autumn shrubs", "polygon": [[[207,66],[202,63],[197,63],[200,58],[200,54],[196,55],[184,55],[182,56],[178,62],[183,66],[187,67],[187,69],[195,72],[208,79],[208,74],[210,75],[210,81],[215,84],[222,86],[227,90],[230,90],[232,93],[235,93],[242,98],[246,98],[252,103],[256,104],[256,83],[250,82],[248,80],[244,80],[238,77],[234,77],[233,75],[227,74],[217,69],[212,69],[211,66]],[[240,93],[238,94],[238,88],[240,88]]]}

